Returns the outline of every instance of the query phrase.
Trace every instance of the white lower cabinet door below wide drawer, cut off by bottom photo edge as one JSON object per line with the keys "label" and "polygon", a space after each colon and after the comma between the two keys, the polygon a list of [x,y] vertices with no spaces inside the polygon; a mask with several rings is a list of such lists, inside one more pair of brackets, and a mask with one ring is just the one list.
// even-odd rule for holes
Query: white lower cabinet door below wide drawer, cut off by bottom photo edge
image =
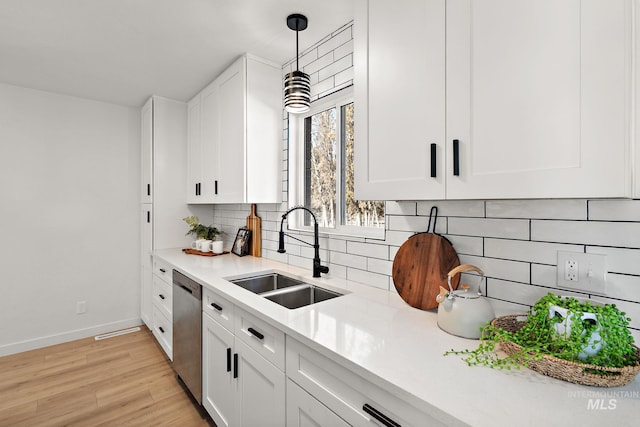
{"label": "white lower cabinet door below wide drawer, cut off by bottom photo edge", "polygon": [[287,427],[347,427],[348,425],[318,399],[287,379]]}

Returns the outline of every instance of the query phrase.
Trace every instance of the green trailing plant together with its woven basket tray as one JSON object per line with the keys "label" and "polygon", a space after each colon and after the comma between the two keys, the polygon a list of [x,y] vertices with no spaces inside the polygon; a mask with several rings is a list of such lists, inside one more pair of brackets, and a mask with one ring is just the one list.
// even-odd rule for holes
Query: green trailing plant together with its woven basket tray
{"label": "green trailing plant together with its woven basket tray", "polygon": [[[640,371],[640,354],[628,329],[630,320],[614,304],[593,304],[549,293],[526,316],[503,316],[485,325],[478,348],[452,349],[445,355],[462,355],[469,366],[526,366],[570,381],[559,376],[562,372],[549,372],[555,363],[561,371],[573,369],[595,383],[580,378],[572,382],[609,385],[607,378],[625,372],[633,380]],[[498,348],[506,354],[499,354]]]}

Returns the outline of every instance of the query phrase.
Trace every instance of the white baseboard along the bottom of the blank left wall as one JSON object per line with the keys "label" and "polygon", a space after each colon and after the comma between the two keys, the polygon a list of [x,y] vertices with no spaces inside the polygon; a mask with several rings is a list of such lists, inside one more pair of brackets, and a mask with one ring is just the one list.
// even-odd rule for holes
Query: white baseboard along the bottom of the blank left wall
{"label": "white baseboard along the bottom of the blank left wall", "polygon": [[119,322],[106,323],[104,325],[92,326],[86,329],[77,329],[75,331],[65,332],[62,334],[49,335],[46,337],[35,338],[27,341],[21,341],[12,344],[0,346],[0,357],[10,354],[22,353],[23,351],[35,350],[37,348],[48,347],[50,345],[62,344],[69,341],[88,338],[99,334],[104,334],[119,329],[131,328],[143,325],[140,318],[121,320]]}

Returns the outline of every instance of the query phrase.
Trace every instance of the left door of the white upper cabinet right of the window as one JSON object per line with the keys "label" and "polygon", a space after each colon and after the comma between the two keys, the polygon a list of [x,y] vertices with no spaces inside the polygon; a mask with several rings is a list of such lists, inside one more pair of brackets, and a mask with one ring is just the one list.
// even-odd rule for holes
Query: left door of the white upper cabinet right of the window
{"label": "left door of the white upper cabinet right of the window", "polygon": [[444,198],[445,1],[357,0],[354,22],[356,198]]}

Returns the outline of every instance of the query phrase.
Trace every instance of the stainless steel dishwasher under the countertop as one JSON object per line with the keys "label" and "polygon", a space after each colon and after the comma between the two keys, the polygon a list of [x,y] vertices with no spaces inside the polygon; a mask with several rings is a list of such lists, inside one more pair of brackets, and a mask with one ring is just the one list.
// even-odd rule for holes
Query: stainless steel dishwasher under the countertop
{"label": "stainless steel dishwasher under the countertop", "polygon": [[202,404],[202,286],[173,271],[173,369]]}

